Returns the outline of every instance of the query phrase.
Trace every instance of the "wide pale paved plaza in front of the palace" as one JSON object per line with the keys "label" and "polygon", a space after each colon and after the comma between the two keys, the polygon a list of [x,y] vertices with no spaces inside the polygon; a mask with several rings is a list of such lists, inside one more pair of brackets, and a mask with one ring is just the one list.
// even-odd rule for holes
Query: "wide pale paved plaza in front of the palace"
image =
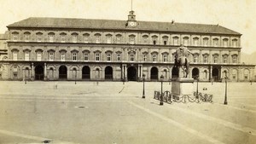
{"label": "wide pale paved plaza in front of the palace", "polygon": [[0,143],[256,143],[256,84],[228,83],[228,105],[224,88],[199,83],[212,103],[160,106],[160,82],[146,82],[142,99],[142,82],[1,81]]}

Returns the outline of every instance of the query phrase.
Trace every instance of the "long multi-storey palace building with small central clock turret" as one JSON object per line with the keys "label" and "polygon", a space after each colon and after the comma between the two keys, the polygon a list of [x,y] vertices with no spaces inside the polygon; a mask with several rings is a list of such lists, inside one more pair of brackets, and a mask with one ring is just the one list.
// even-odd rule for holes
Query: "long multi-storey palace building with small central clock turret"
{"label": "long multi-storey palace building with small central clock turret", "polygon": [[189,55],[189,78],[253,80],[254,65],[241,64],[241,33],[219,25],[136,20],[32,17],[8,27],[3,80],[166,81],[177,77],[176,49]]}

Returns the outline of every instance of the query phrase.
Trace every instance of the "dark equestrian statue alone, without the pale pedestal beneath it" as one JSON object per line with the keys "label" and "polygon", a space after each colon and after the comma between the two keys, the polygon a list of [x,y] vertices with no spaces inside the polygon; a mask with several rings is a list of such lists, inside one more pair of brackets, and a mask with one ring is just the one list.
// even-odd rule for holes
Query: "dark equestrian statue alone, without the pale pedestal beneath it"
{"label": "dark equestrian statue alone, without the pale pedestal beneath it", "polygon": [[[181,44],[177,48],[174,58],[174,67],[179,71],[183,70],[183,78],[188,78],[189,74],[189,54],[193,55],[187,47]],[[180,76],[179,76],[180,77]]]}

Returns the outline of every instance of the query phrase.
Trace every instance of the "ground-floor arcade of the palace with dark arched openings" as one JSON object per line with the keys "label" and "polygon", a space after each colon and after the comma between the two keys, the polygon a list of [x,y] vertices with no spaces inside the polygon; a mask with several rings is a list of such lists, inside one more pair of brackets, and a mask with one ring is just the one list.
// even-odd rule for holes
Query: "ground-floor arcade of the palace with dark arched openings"
{"label": "ground-floor arcade of the palace with dark arched openings", "polygon": [[[5,62],[0,63],[3,80],[101,80],[101,81],[165,81],[177,78],[179,70],[173,64],[152,63],[60,63],[60,62]],[[191,64],[189,78],[220,82],[253,81],[254,66]]]}

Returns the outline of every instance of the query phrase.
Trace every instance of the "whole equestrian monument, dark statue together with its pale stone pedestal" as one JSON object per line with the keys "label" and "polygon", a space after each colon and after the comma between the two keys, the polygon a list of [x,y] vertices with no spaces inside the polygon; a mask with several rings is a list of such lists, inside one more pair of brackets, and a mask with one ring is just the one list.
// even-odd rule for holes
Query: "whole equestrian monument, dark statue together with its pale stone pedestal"
{"label": "whole equestrian monument, dark statue together with its pale stone pedestal", "polygon": [[188,78],[189,54],[193,55],[183,44],[176,50],[173,68],[177,68],[178,77],[172,78],[172,95],[193,95],[194,79]]}

